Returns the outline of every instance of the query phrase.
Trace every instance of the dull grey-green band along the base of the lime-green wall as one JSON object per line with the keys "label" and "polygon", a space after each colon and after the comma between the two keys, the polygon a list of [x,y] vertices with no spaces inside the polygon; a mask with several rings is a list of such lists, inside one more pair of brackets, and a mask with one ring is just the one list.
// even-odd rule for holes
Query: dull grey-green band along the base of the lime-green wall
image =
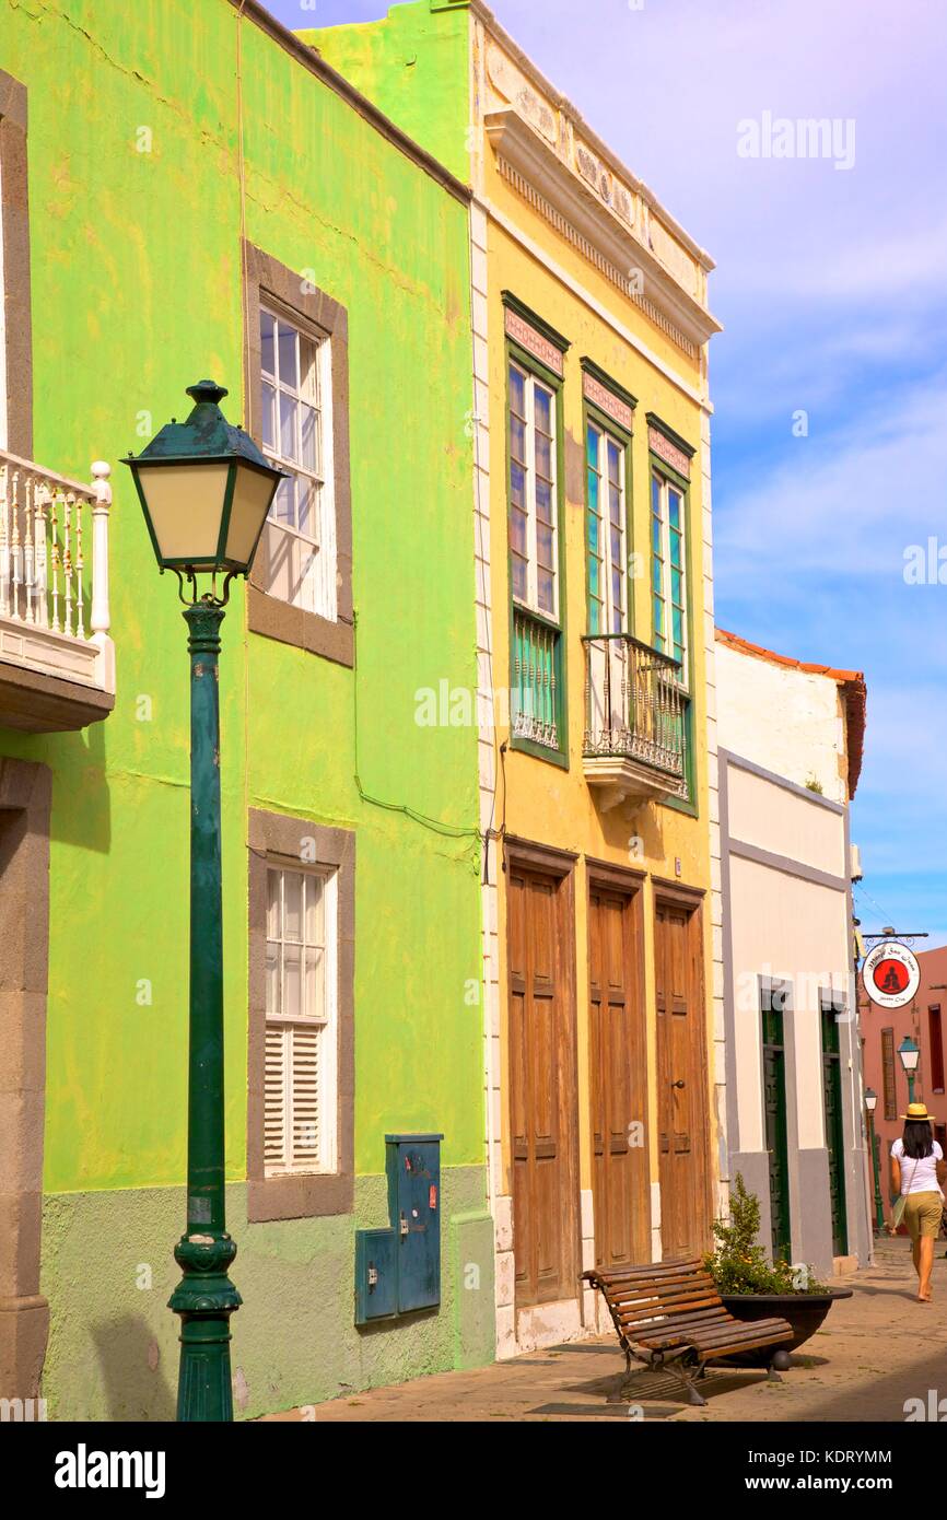
{"label": "dull grey-green band along the base of the lime-green wall", "polygon": [[[483,1173],[448,1167],[441,1180],[436,1313],[369,1330],[353,1324],[354,1230],[388,1224],[383,1176],[359,1178],[354,1216],[242,1231],[234,1280],[243,1307],[231,1321],[239,1420],[493,1360]],[[228,1189],[230,1219],[246,1218],[245,1192]],[[182,1218],[176,1187],[47,1199],[44,1251],[56,1283],[43,1376],[50,1420],[173,1420],[178,1322],[166,1304],[179,1272],[164,1243],[181,1233]]]}

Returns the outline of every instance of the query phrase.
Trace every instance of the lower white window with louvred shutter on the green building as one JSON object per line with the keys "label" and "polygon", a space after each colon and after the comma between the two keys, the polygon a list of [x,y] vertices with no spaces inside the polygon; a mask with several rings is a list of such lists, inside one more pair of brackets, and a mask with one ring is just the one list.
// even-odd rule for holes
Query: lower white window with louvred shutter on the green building
{"label": "lower white window with louvred shutter on the green building", "polygon": [[266,869],[264,1176],[337,1167],[337,872]]}

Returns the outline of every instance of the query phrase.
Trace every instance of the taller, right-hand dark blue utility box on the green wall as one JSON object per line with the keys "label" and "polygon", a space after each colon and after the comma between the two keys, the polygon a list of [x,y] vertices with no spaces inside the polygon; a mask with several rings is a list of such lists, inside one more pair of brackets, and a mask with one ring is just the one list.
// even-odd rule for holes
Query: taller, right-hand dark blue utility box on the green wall
{"label": "taller, right-hand dark blue utility box on the green wall", "polygon": [[441,1140],[385,1135],[388,1218],[398,1239],[398,1313],[441,1303]]}

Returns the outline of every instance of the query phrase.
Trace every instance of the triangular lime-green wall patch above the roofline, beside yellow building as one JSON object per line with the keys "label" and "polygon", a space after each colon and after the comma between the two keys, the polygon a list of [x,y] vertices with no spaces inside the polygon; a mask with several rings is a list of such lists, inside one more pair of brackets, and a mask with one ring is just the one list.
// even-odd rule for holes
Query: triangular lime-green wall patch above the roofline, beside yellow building
{"label": "triangular lime-green wall patch above the roofline, beside yellow building", "polygon": [[382,21],[299,32],[451,173],[470,179],[470,11],[410,0]]}

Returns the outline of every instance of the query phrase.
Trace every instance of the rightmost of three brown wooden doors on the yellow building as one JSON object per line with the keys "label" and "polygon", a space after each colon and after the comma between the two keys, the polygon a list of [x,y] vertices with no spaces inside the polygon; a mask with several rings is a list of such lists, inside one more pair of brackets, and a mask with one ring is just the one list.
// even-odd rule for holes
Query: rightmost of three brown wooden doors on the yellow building
{"label": "rightmost of three brown wooden doors on the yellow building", "polygon": [[710,1135],[701,907],[655,904],[658,1155],[661,1252],[696,1256],[710,1243]]}

